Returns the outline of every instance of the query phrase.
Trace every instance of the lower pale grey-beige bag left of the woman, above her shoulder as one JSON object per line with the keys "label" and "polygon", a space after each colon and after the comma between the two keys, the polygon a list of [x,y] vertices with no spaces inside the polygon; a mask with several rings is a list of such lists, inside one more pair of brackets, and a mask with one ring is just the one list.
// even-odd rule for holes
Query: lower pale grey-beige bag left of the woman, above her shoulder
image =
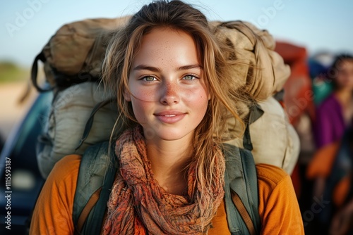
{"label": "lower pale grey-beige bag left of the woman, above her shoulder", "polygon": [[65,155],[83,154],[88,146],[109,141],[118,115],[116,103],[108,103],[95,113],[90,132],[80,144],[92,109],[107,99],[109,95],[97,82],[76,84],[57,94],[37,143],[37,162],[42,177],[47,178],[55,163]]}

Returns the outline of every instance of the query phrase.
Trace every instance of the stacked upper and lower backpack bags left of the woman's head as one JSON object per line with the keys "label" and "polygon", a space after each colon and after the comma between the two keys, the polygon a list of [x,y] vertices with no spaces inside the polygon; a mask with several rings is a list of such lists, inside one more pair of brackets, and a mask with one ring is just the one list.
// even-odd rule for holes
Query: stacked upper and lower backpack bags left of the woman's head
{"label": "stacked upper and lower backpack bags left of the woman's head", "polygon": [[[37,91],[52,90],[54,98],[37,141],[37,162],[44,179],[65,155],[109,140],[118,117],[116,103],[100,80],[111,32],[125,18],[97,18],[63,25],[35,57],[31,80]],[[37,81],[38,63],[44,63],[47,87]],[[49,88],[48,88],[49,87]],[[90,116],[92,110],[94,118]],[[89,133],[85,133],[88,123]]]}

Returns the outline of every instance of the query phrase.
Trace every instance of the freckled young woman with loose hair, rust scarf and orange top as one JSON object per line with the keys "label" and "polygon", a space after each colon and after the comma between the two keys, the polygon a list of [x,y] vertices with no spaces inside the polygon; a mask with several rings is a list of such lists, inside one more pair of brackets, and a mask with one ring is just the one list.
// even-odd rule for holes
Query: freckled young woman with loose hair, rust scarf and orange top
{"label": "freckled young woman with loose hair, rust scarf and orange top", "polygon": [[[225,117],[237,94],[227,46],[200,11],[181,1],[143,6],[109,45],[104,81],[124,125],[113,133],[119,162],[102,234],[230,234],[225,212]],[[233,89],[233,90],[232,90]],[[240,124],[239,124],[240,125]],[[31,234],[73,234],[80,155],[52,170]],[[258,165],[261,234],[304,234],[292,182]]]}

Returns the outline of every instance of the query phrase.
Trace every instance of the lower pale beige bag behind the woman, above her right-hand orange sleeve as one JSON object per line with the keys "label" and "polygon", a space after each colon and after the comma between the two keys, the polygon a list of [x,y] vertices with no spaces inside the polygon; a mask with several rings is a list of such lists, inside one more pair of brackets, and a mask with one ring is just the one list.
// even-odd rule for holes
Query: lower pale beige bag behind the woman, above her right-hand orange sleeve
{"label": "lower pale beige bag behind the woman, above her right-hand orange sleeve", "polygon": [[[249,125],[255,163],[275,165],[292,174],[299,157],[299,136],[289,123],[285,110],[272,96],[258,102],[258,106],[263,115]],[[231,126],[232,119],[229,119]],[[244,134],[226,143],[244,148],[243,139]]]}

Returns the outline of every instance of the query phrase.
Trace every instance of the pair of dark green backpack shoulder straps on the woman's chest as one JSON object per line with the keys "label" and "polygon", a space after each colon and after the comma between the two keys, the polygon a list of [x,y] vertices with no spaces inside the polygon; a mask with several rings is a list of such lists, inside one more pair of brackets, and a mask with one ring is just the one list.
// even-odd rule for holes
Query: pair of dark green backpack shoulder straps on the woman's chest
{"label": "pair of dark green backpack shoulder straps on the woman's chest", "polygon": [[[88,147],[83,154],[73,203],[75,234],[100,234],[107,201],[116,170],[114,154],[108,155],[109,142]],[[114,153],[111,147],[111,152]],[[259,234],[258,183],[251,151],[224,144],[225,207],[229,231]]]}

